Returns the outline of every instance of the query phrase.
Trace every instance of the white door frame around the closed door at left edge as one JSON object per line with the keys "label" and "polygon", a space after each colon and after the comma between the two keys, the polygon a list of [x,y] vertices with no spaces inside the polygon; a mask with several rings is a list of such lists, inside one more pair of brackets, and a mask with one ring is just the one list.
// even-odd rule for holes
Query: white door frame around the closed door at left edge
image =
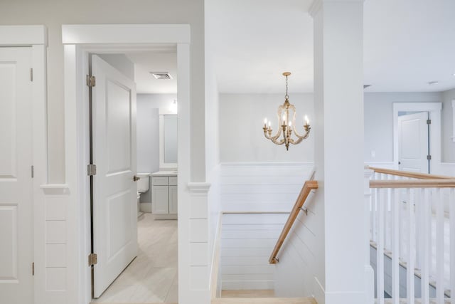
{"label": "white door frame around the closed door at left edge", "polygon": [[[33,255],[35,263],[34,302],[45,303],[45,206],[41,186],[48,183],[47,78],[45,26],[0,26],[0,47],[29,46],[32,53],[32,157]],[[44,187],[43,187],[44,188]]]}

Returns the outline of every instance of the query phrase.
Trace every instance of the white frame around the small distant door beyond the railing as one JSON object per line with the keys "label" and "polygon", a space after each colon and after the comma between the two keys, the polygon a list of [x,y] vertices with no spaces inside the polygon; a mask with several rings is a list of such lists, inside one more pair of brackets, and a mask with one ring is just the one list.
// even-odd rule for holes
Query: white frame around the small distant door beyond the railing
{"label": "white frame around the small distant door beyond the railing", "polygon": [[442,103],[393,103],[393,164],[398,169],[398,112],[428,112],[432,124],[429,127],[429,151],[432,155],[430,172],[438,174],[441,167],[441,109]]}

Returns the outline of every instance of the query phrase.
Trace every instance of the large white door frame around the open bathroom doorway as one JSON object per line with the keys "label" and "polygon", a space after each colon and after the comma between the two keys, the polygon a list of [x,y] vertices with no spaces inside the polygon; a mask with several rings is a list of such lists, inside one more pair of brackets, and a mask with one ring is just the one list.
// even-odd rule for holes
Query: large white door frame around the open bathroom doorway
{"label": "large white door frame around the open bathroom doorway", "polygon": [[178,63],[178,298],[185,303],[190,286],[188,226],[190,193],[190,26],[188,24],[63,25],[65,55],[65,174],[68,201],[68,295],[70,303],[91,299],[90,209],[87,208],[87,54],[157,45],[177,46]]}

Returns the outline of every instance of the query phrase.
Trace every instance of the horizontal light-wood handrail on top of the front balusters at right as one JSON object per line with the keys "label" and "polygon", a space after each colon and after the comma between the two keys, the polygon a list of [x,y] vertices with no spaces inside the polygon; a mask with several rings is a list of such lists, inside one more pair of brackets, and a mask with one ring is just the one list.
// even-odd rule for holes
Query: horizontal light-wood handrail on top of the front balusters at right
{"label": "horizontal light-wood handrail on top of the front balusters at right", "polygon": [[455,188],[455,179],[381,179],[370,181],[370,188]]}

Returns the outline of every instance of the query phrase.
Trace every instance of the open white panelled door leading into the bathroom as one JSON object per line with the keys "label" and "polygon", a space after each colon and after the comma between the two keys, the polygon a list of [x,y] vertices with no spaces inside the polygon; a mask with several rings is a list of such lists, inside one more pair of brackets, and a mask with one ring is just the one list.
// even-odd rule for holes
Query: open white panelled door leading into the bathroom
{"label": "open white panelled door leading into the bathroom", "polygon": [[92,56],[94,295],[137,256],[136,85]]}

